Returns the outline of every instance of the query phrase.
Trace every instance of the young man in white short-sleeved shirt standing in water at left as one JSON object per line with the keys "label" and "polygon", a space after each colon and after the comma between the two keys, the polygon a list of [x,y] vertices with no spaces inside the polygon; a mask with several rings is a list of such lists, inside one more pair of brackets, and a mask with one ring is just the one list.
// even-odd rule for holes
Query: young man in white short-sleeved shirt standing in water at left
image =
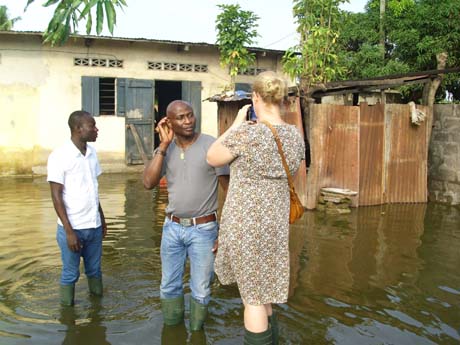
{"label": "young man in white short-sleeved shirt standing in water at left", "polygon": [[102,238],[107,225],[99,203],[97,177],[101,168],[94,147],[98,129],[91,114],[74,111],[68,121],[71,138],[48,158],[48,182],[58,215],[57,242],[61,249],[61,304],[74,304],[75,283],[83,257],[88,287],[102,295]]}

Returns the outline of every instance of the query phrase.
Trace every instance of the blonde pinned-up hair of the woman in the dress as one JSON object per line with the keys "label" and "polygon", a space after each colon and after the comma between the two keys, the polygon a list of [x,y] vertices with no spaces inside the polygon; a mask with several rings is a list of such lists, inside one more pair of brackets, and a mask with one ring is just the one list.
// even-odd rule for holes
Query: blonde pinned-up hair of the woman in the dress
{"label": "blonde pinned-up hair of the woman in the dress", "polygon": [[256,77],[252,91],[259,94],[265,103],[280,104],[287,96],[287,85],[278,74],[266,71]]}

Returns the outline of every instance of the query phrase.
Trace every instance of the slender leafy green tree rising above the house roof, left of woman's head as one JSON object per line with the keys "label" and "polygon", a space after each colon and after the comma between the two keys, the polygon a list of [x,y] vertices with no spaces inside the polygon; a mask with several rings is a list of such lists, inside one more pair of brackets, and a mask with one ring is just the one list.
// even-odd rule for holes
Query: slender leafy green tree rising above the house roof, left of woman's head
{"label": "slender leafy green tree rising above the house roof, left of woman's head", "polygon": [[234,90],[238,73],[245,71],[255,61],[255,54],[247,47],[257,37],[259,17],[251,11],[242,10],[239,5],[217,6],[221,9],[216,18],[220,63],[222,67],[228,67],[230,89]]}

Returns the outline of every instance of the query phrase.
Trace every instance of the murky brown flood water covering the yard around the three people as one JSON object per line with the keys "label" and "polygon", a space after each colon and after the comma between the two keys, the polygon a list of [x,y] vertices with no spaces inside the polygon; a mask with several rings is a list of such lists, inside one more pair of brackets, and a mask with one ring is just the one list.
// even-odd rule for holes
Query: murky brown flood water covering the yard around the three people
{"label": "murky brown flood water covering the yard around the three people", "polygon": [[[138,175],[101,176],[109,225],[104,297],[90,298],[82,274],[76,306],[61,308],[56,216],[45,178],[4,178],[0,188],[0,344],[242,343],[238,290],[217,282],[204,333],[192,336],[187,321],[163,329],[165,189],[144,190]],[[291,297],[275,308],[282,344],[460,343],[459,208],[307,212],[291,228],[290,245]]]}

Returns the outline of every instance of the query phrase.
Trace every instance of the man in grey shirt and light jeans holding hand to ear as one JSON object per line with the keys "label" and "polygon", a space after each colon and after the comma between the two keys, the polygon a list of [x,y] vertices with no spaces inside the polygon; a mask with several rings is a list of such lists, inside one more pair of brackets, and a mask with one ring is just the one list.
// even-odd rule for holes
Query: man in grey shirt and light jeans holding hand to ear
{"label": "man in grey shirt and light jeans holding hand to ear", "polygon": [[171,102],[157,126],[160,145],[143,174],[152,189],[166,176],[169,203],[161,239],[161,308],[166,325],[184,318],[182,279],[190,259],[190,329],[202,329],[211,297],[217,250],[217,187],[228,186],[228,166],[213,168],[206,153],[215,138],[195,133],[196,118],[185,101]]}

